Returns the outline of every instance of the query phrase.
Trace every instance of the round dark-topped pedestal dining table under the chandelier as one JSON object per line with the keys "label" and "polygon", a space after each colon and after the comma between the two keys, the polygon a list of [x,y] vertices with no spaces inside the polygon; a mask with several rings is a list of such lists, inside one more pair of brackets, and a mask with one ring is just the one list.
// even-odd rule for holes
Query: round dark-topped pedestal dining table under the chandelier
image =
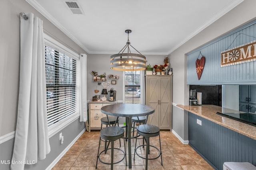
{"label": "round dark-topped pedestal dining table under the chandelier", "polygon": [[[131,132],[132,117],[146,116],[154,113],[152,106],[144,104],[111,104],[101,107],[102,113],[116,117],[126,117],[126,125],[128,127],[128,160],[129,168],[132,168],[132,149],[131,149]],[[126,133],[127,134],[127,133]]]}

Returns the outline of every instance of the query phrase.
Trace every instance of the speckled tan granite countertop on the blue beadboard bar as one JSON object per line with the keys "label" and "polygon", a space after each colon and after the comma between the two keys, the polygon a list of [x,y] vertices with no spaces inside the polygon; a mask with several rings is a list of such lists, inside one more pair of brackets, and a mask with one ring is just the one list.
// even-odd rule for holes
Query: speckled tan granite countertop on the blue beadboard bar
{"label": "speckled tan granite countertop on the blue beadboard bar", "polygon": [[238,113],[240,111],[228,109],[220,106],[215,106],[215,105],[201,105],[201,106],[176,105],[176,106],[256,140],[255,126],[248,125],[246,123],[242,123],[240,121],[236,121],[228,117],[223,117],[221,115],[216,114],[216,112]]}

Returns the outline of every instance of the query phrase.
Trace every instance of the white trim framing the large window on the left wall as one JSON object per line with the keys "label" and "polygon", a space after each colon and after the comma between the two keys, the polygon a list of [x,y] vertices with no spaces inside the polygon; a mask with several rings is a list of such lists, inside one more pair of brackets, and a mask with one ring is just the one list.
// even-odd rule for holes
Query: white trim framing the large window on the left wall
{"label": "white trim framing the large window on the left wall", "polygon": [[[54,47],[54,49],[57,49],[58,51],[65,53],[66,55],[68,55],[69,57],[75,59],[77,62],[79,61],[79,57],[80,55],[77,54],[76,52],[72,51],[71,49],[69,49],[68,47],[66,47],[65,45],[62,45],[62,43],[56,41],[55,39],[53,39],[52,37],[48,36],[47,34],[44,33],[44,44],[45,45],[49,45],[50,47]],[[44,48],[44,47],[42,47]],[[44,55],[43,55],[44,56]],[[79,63],[79,62],[78,62]],[[80,108],[80,85],[79,85],[79,65],[77,64],[77,68],[76,68],[76,73],[77,73],[77,78],[76,78],[76,90],[77,90],[77,111],[76,113],[73,113],[72,115],[65,117],[64,119],[62,119],[62,121],[55,123],[54,125],[51,125],[50,127],[48,127],[48,137],[52,137],[55,134],[57,134],[59,131],[61,131],[62,129],[64,129],[65,127],[67,127],[68,125],[70,125],[71,123],[73,123],[74,121],[76,121],[79,117],[80,117],[80,113],[79,113],[79,108]],[[45,84],[46,86],[46,84]]]}

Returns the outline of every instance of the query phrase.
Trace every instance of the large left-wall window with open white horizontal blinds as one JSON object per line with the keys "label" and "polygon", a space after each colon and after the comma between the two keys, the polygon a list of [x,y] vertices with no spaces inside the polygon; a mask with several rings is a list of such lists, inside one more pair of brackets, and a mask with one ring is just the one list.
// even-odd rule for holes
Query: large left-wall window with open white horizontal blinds
{"label": "large left-wall window with open white horizontal blinds", "polygon": [[45,45],[48,127],[77,113],[76,60]]}

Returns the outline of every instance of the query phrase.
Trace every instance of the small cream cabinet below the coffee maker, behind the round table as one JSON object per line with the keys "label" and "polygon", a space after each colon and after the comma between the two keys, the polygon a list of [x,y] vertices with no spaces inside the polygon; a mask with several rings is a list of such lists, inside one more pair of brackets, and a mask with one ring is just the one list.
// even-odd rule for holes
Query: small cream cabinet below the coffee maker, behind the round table
{"label": "small cream cabinet below the coffee maker, behind the round table", "polygon": [[101,107],[116,103],[117,102],[108,101],[89,102],[89,132],[91,130],[100,130],[100,119],[106,117],[106,115],[101,112]]}

